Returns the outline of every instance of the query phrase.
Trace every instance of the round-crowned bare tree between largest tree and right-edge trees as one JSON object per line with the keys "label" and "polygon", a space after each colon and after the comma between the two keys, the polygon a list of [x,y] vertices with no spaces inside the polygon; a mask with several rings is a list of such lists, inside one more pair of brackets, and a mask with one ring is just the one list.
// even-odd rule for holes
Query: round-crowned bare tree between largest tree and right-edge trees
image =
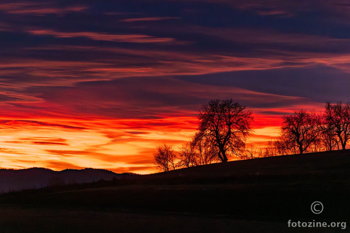
{"label": "round-crowned bare tree between largest tree and right-edge trees", "polygon": [[278,141],[286,150],[302,154],[315,142],[320,133],[314,114],[298,110],[294,115],[283,116]]}

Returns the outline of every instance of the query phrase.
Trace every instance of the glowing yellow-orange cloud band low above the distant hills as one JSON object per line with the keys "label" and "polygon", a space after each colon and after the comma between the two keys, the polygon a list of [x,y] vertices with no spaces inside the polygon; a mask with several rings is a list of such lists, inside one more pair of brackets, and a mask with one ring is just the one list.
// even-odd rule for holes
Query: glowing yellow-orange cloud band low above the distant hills
{"label": "glowing yellow-orange cloud band low above the distant hills", "polygon": [[[1,127],[4,136],[0,137],[2,166],[24,168],[50,165],[50,168],[60,169],[63,165],[71,165],[119,172],[118,169],[138,173],[154,172],[154,143],[167,141],[180,144],[193,130],[186,131],[186,127],[182,127],[186,122],[186,118],[154,122],[96,121],[87,122],[92,126],[91,129],[80,129],[49,122],[33,124],[30,121],[3,121]],[[101,128],[104,128],[102,132]],[[130,133],[130,129],[140,131]],[[26,159],[23,159],[23,155],[26,155]]]}

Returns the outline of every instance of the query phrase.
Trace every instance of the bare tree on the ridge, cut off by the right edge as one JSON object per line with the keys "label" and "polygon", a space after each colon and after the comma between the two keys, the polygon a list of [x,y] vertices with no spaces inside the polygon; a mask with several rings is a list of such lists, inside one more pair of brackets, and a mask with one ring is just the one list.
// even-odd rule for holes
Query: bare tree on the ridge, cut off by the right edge
{"label": "bare tree on the ridge, cut off by the right edge", "polygon": [[[325,124],[338,137],[342,149],[345,150],[346,143],[350,139],[350,102],[331,104],[327,102],[323,114]],[[332,145],[331,141],[329,142]]]}

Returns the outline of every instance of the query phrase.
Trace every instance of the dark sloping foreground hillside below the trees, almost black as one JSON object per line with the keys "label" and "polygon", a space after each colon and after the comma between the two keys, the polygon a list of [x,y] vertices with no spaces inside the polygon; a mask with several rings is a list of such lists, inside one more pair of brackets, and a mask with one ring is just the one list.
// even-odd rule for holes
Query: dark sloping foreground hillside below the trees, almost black
{"label": "dark sloping foreground hillside below the trees, almost black", "polygon": [[1,195],[0,232],[350,232],[349,184],[349,150],[233,161]]}

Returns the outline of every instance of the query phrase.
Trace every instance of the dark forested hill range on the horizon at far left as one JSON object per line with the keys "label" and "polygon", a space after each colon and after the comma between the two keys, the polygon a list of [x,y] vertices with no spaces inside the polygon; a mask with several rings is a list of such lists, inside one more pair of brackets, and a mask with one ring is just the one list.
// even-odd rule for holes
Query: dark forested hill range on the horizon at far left
{"label": "dark forested hill range on the horizon at far left", "polygon": [[47,186],[81,184],[99,180],[120,179],[132,173],[118,174],[105,169],[65,169],[54,171],[48,168],[0,169],[0,194],[25,189],[40,189]]}

